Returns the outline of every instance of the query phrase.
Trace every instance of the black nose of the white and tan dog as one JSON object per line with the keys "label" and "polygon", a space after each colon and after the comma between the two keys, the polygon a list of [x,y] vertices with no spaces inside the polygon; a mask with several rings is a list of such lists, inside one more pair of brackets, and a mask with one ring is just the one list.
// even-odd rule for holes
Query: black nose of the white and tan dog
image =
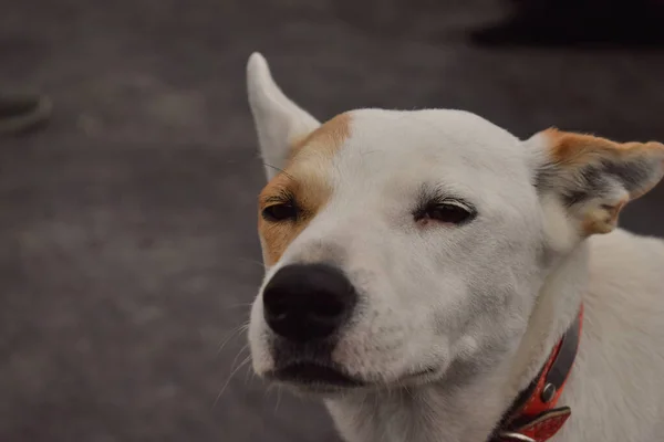
{"label": "black nose of the white and tan dog", "polygon": [[349,278],[326,264],[280,269],[263,291],[263,314],[278,335],[298,343],[331,336],[350,317],[357,294]]}

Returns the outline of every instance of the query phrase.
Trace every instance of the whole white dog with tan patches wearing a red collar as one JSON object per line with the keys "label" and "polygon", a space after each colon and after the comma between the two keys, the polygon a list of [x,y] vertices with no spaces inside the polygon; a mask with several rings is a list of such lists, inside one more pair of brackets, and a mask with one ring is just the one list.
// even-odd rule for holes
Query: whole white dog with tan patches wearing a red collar
{"label": "whole white dog with tan patches wearing a red collar", "polygon": [[664,440],[664,242],[614,231],[664,145],[522,141],[460,110],[321,125],[260,54],[248,92],[258,375],[351,442]]}

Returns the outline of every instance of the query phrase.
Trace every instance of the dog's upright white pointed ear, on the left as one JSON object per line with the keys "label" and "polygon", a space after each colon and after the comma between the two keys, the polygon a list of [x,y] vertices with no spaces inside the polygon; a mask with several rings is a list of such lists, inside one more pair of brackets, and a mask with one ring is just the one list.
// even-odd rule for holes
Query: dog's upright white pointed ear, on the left
{"label": "dog's upright white pointed ear, on the left", "polygon": [[270,180],[286,166],[292,145],[305,138],[320,123],[283,95],[272,80],[268,62],[258,52],[251,54],[247,63],[247,92]]}

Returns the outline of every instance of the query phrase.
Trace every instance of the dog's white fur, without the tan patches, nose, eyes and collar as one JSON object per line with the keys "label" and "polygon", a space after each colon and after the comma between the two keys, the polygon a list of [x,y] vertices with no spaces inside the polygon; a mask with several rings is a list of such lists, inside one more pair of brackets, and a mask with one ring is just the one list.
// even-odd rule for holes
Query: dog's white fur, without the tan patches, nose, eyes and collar
{"label": "dog's white fur, without the tan patches, nose, eyes and collar", "polygon": [[[276,167],[318,122],[272,82],[260,55],[249,96]],[[350,442],[483,442],[541,368],[581,302],[585,322],[556,442],[641,442],[664,428],[664,242],[616,230],[589,239],[533,179],[547,149],[460,110],[350,113],[329,203],[269,269],[333,260],[362,313],[333,352],[375,388],[323,398]],[[273,171],[268,168],[268,178]],[[471,202],[467,225],[417,225],[423,185]],[[253,367],[272,367],[261,293]],[[436,367],[426,378],[409,379]]]}

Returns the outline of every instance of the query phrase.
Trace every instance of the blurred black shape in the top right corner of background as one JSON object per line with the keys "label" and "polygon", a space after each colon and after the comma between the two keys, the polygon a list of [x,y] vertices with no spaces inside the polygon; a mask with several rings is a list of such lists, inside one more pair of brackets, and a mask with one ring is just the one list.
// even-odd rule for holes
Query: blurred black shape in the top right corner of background
{"label": "blurred black shape in the top right corner of background", "polygon": [[511,0],[506,22],[473,33],[483,45],[664,44],[662,0]]}

